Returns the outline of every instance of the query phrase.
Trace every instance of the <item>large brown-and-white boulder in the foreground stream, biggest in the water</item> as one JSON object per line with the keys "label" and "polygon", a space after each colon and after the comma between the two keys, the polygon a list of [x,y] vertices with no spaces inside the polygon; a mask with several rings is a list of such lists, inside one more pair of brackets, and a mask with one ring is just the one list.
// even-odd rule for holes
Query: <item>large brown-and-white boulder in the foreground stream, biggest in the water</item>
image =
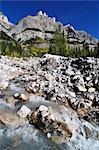
{"label": "large brown-and-white boulder in the foreground stream, biggest in the water", "polygon": [[[47,116],[45,116],[45,114],[42,114],[42,112],[46,111],[49,112]],[[36,128],[46,133],[47,137],[51,138],[54,142],[56,142],[56,138],[59,138],[60,143],[63,143],[63,141],[66,141],[72,136],[72,132],[69,126],[66,124],[65,120],[63,123],[60,115],[57,115],[57,110],[54,110],[51,106],[46,108],[46,106],[41,105],[36,111],[31,114],[31,119]]]}

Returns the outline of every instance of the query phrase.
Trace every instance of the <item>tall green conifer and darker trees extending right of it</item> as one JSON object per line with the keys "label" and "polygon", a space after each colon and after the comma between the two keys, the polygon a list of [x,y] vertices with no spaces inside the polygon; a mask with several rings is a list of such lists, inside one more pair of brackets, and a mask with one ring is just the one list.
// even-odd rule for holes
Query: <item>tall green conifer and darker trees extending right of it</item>
{"label": "tall green conifer and darker trees extending right of it", "polygon": [[90,49],[88,44],[83,45],[83,48],[80,49],[77,43],[70,48],[64,32],[56,31],[50,41],[49,53],[67,57],[99,57],[99,43],[95,50]]}

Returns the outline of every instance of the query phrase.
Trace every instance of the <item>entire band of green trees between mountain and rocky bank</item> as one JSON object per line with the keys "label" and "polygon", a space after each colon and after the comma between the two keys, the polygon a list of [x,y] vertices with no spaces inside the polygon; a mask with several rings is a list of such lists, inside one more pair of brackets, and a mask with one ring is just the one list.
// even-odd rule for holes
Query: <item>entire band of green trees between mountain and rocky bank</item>
{"label": "entire band of green trees between mountain and rocky bank", "polygon": [[[46,46],[48,43],[49,48]],[[81,49],[77,43],[74,43],[74,46],[70,47],[64,32],[60,31],[56,31],[53,39],[50,41],[36,37],[35,39],[32,38],[25,42],[21,42],[20,39],[15,41],[6,35],[6,33],[0,32],[0,55],[12,57],[41,57],[45,53],[68,57],[99,57],[99,43],[95,50],[89,49],[88,44],[85,44]]]}

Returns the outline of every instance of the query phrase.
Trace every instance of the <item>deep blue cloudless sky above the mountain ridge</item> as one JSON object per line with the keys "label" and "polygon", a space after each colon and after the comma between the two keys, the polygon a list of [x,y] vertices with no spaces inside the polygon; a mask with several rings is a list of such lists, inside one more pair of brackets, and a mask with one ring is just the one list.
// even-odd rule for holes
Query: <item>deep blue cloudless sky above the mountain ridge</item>
{"label": "deep blue cloudless sky above the mountain ridge", "polygon": [[9,1],[0,0],[2,11],[13,23],[43,10],[57,21],[85,30],[99,39],[99,1]]}

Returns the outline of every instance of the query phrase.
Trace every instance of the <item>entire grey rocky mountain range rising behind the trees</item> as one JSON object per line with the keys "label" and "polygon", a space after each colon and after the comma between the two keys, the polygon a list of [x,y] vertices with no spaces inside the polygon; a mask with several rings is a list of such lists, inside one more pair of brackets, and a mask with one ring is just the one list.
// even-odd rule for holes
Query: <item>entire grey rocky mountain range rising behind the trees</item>
{"label": "entire grey rocky mountain range rising behind the trees", "polygon": [[[98,40],[89,33],[75,30],[70,24],[63,25],[61,22],[57,22],[55,17],[51,18],[42,11],[39,11],[35,16],[24,17],[15,25],[9,22],[6,16],[0,15],[0,32],[3,31],[15,41],[25,43],[23,47],[26,48],[26,45],[32,41],[32,44],[36,44],[38,47],[48,48],[49,40],[53,38],[53,34],[57,30],[64,32],[70,49],[82,50],[85,45],[88,45],[90,50],[94,50],[97,46]],[[34,43],[36,38],[41,39],[41,42]]]}

